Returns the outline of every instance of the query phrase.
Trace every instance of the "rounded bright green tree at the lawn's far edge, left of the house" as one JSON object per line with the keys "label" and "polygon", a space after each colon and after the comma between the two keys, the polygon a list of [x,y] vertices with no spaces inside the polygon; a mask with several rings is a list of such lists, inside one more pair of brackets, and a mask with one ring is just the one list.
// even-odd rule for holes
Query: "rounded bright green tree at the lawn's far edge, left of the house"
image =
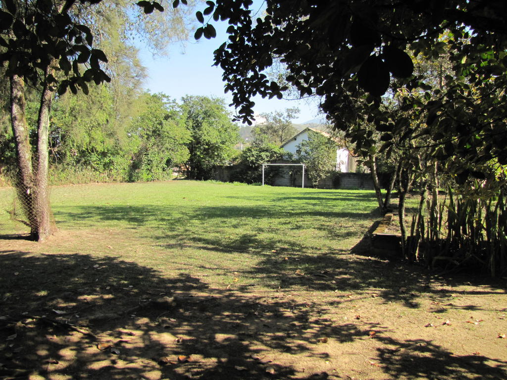
{"label": "rounded bright green tree at the lawn's far edge, left of the house", "polygon": [[216,165],[225,165],[234,156],[239,128],[230,120],[224,100],[206,96],[182,99],[185,125],[190,131],[190,157],[185,163],[192,179],[209,179]]}

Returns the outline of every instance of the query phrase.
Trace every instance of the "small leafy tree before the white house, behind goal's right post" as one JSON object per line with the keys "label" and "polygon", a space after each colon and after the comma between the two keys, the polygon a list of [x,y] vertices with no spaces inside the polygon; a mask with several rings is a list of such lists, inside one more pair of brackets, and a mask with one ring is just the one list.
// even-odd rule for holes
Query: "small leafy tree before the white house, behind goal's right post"
{"label": "small leafy tree before the white house, behind goal's right post", "polygon": [[297,153],[306,165],[308,177],[315,188],[331,174],[336,164],[336,143],[320,133],[309,133],[308,140],[299,144]]}

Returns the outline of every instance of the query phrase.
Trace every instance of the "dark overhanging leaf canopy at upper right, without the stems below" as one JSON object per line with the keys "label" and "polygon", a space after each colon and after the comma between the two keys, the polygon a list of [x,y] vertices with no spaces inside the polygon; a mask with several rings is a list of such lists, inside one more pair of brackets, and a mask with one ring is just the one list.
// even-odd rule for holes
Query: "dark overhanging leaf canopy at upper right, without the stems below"
{"label": "dark overhanging leaf canopy at upper right, without the stems below", "polygon": [[[293,86],[302,97],[320,96],[323,111],[360,142],[364,156],[377,142],[364,128],[370,124],[382,132],[382,150],[413,149],[422,138],[439,160],[464,162],[451,168],[458,181],[484,176],[468,162],[507,164],[504,1],[267,0],[257,19],[250,0],[206,4],[195,37],[213,37],[210,22],[228,20],[229,39],[215,51],[215,64],[243,122],[251,123],[252,96],[281,98]],[[412,52],[430,60],[450,52],[453,72],[443,88],[415,75]],[[286,67],[286,86],[268,79],[275,61]],[[400,89],[422,96],[405,97],[393,113],[381,97]]]}

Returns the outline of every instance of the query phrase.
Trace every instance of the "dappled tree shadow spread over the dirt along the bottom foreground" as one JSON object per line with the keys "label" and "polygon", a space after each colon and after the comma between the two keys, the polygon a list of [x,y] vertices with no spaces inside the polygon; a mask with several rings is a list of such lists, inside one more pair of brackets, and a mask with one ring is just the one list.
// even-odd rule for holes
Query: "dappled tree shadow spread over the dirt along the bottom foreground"
{"label": "dappled tree shadow spread over the dirt along the bottom foreground", "polygon": [[114,257],[0,251],[0,289],[6,378],[337,378],[277,359],[282,353],[326,359],[322,336],[340,343],[377,339],[389,347],[377,349],[377,360],[393,379],[507,375],[501,360],[453,356],[431,341],[394,340],[378,324],[337,325],[310,303],[211,289],[193,276],[165,278]]}

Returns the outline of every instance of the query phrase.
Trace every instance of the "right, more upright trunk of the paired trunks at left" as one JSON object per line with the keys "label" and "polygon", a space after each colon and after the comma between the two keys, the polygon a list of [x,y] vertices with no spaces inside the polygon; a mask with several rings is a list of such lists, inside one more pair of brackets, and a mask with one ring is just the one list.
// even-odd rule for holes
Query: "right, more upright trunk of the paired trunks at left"
{"label": "right, more upright trunk of the paired trunks at left", "polygon": [[[47,74],[46,72],[46,77]],[[49,166],[49,113],[51,111],[51,102],[53,98],[53,91],[49,88],[48,84],[44,85],[39,108],[38,124],[38,141],[37,141],[37,173],[35,174],[35,194],[34,203],[37,211],[37,231],[38,240],[41,242],[45,240],[51,233],[56,230],[56,227],[51,225],[51,212],[49,207],[49,192],[48,192],[48,166]]]}

